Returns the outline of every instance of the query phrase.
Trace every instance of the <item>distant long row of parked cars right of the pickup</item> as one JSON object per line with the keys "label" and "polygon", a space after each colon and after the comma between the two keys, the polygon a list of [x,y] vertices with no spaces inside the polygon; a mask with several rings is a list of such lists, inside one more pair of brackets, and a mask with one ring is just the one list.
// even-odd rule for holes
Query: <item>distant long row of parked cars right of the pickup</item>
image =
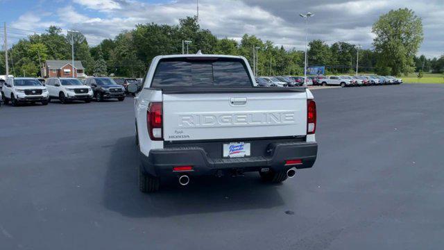
{"label": "distant long row of parked cars right of the pickup", "polygon": [[[304,76],[260,76],[256,82],[262,87],[296,87],[305,82]],[[341,87],[400,84],[401,78],[394,76],[308,76],[307,85],[339,85]]]}

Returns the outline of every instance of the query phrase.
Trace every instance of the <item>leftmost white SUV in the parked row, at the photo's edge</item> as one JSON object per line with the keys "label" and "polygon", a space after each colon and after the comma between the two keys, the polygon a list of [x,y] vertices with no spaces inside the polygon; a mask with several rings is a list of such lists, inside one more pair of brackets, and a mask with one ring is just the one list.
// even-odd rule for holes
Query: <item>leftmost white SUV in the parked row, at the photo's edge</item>
{"label": "leftmost white SUV in the parked row, at the photo's edge", "polygon": [[48,90],[36,78],[10,77],[3,84],[1,92],[4,103],[11,102],[12,106],[23,102],[48,104]]}

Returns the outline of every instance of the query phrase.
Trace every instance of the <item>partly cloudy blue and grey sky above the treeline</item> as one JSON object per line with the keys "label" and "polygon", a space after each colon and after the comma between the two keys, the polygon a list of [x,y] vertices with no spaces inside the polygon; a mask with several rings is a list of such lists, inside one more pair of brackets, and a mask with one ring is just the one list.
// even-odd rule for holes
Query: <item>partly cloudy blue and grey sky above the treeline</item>
{"label": "partly cloudy blue and grey sky above the treeline", "polygon": [[[196,0],[0,0],[0,21],[10,44],[56,25],[81,31],[91,45],[114,38],[136,24],[178,24],[196,15]],[[312,12],[309,40],[361,44],[371,49],[373,23],[391,9],[411,8],[422,18],[424,42],[419,54],[444,54],[444,0],[199,0],[199,24],[218,38],[240,40],[244,33],[286,49],[305,47],[305,21]],[[3,34],[0,35],[3,40]]]}

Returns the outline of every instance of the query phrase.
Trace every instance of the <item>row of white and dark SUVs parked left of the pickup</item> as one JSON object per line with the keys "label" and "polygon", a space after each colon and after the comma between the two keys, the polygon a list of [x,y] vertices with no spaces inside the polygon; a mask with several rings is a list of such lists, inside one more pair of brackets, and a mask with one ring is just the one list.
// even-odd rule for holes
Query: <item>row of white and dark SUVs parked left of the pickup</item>
{"label": "row of white and dark SUVs parked left of the pickup", "polygon": [[42,103],[47,105],[51,100],[60,103],[85,101],[93,99],[117,99],[123,101],[126,94],[135,94],[142,89],[142,81],[123,78],[118,84],[114,78],[89,77],[80,81],[78,78],[26,78],[9,77],[0,82],[0,98],[3,103],[17,106],[20,103]]}

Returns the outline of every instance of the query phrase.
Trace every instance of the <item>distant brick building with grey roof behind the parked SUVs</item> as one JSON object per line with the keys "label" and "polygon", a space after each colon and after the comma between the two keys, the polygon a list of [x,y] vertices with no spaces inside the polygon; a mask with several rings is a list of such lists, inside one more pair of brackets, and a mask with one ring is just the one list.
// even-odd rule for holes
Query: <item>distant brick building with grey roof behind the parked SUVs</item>
{"label": "distant brick building with grey roof behind the parked SUVs", "polygon": [[[72,77],[71,60],[46,60],[42,69],[42,76],[49,77]],[[74,77],[85,77],[85,68],[79,60],[74,61]]]}

